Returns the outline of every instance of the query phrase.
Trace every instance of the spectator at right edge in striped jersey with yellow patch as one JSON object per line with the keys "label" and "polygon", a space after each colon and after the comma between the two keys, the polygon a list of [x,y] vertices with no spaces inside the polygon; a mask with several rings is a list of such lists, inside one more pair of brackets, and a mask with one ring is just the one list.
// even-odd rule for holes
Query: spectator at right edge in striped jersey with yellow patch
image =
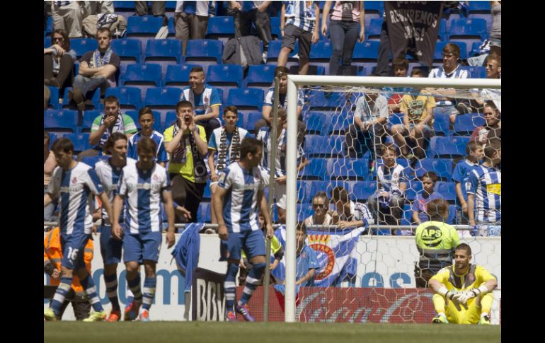
{"label": "spectator at right edge in striped jersey with yellow patch", "polygon": [[501,225],[501,141],[489,139],[484,148],[484,161],[470,171],[467,188],[467,211],[469,226],[479,228],[476,236],[500,236],[497,228]]}

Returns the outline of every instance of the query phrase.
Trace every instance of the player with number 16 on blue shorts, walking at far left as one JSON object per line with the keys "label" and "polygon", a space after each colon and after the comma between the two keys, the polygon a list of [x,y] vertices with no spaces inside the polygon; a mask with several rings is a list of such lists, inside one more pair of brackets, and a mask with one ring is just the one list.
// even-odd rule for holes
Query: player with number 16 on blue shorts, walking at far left
{"label": "player with number 16 on blue shorts, walking at far left", "polygon": [[45,320],[56,320],[62,303],[70,290],[74,272],[89,297],[94,312],[84,319],[86,322],[103,320],[106,313],[96,293],[93,278],[84,263],[85,245],[91,238],[93,218],[88,199],[91,194],[100,195],[106,213],[111,214],[108,196],[103,192],[95,170],[85,163],[72,158],[74,144],[70,139],[57,139],[52,146],[57,168],[55,168],[47,191],[44,194],[44,207],[52,199],[59,197],[61,228],[61,280],[55,291],[50,307],[44,311]]}

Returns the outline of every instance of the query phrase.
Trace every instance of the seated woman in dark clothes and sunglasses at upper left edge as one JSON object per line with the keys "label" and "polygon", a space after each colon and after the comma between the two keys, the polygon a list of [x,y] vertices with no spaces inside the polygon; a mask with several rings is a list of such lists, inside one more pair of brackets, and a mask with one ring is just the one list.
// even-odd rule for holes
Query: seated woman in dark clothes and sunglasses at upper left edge
{"label": "seated woman in dark clothes and sunglasses at upper left edge", "polygon": [[72,81],[76,52],[70,49],[70,38],[64,30],[55,30],[51,42],[53,45],[43,50],[43,84],[62,89]]}

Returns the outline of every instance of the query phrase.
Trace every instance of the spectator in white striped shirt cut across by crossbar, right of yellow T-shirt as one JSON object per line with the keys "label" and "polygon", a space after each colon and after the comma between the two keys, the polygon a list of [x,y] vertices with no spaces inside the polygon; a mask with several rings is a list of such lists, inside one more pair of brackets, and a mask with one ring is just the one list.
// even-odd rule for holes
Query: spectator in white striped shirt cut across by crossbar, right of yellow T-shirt
{"label": "spectator in white striped shirt cut across by crossbar, right of yellow T-shirt", "polygon": [[[461,69],[461,64],[458,63],[460,58],[460,47],[453,43],[447,43],[442,50],[443,64],[440,67],[430,71],[430,78],[436,79],[468,79],[469,74],[465,69]],[[444,95],[437,98],[435,104],[435,113],[446,113],[449,115],[450,123],[454,124],[456,116],[459,114],[457,110],[457,101],[454,98],[456,90],[454,88],[442,88],[436,90],[437,93]]]}

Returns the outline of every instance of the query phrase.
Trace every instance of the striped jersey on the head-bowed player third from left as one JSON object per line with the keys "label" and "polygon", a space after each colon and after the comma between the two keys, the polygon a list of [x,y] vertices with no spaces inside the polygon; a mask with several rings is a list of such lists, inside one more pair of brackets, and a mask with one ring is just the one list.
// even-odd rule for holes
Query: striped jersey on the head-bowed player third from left
{"label": "striped jersey on the head-bowed player third from left", "polygon": [[126,202],[125,234],[161,231],[161,193],[171,191],[170,183],[166,169],[157,163],[150,170],[140,170],[137,163],[125,165],[118,185]]}

